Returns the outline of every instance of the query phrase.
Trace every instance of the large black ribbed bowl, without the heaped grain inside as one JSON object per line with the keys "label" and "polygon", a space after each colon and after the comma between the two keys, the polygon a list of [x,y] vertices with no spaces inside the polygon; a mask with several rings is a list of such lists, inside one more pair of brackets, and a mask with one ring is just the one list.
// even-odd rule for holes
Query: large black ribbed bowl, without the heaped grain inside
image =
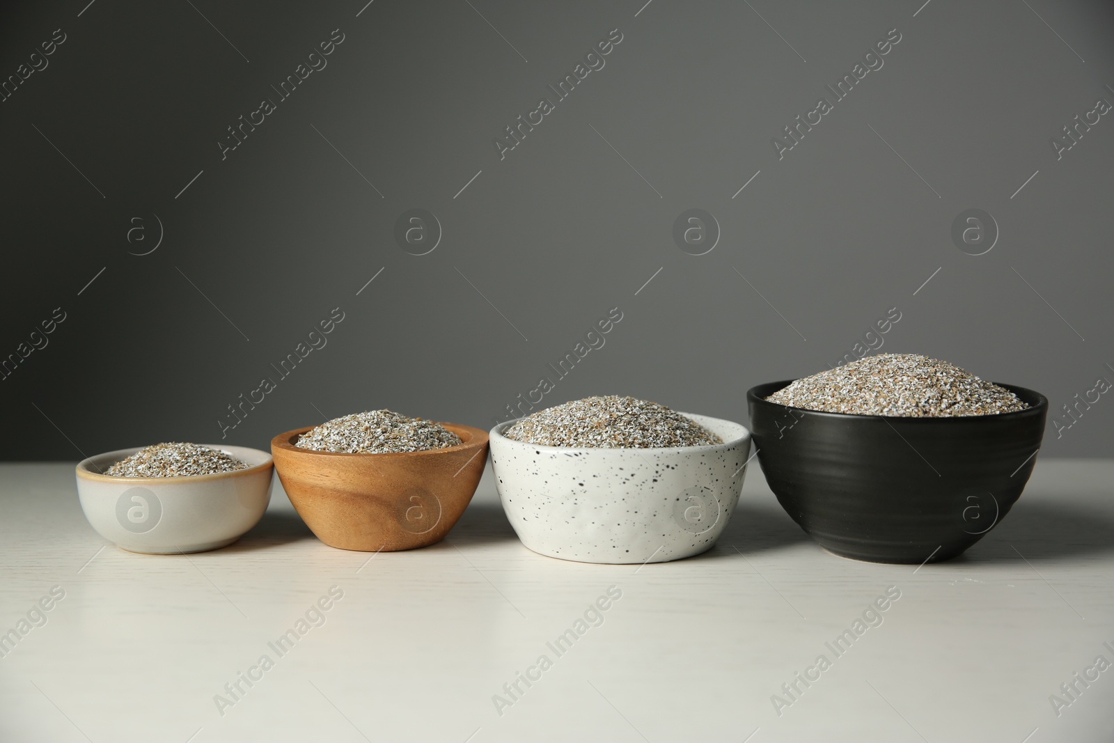
{"label": "large black ribbed bowl, without the heaped grain inside", "polygon": [[1048,413],[1043,394],[1010,384],[1030,407],[997,416],[850,416],[765,400],[789,383],[746,393],[766,482],[821,547],[872,563],[935,563],[978,541],[1022,495]]}

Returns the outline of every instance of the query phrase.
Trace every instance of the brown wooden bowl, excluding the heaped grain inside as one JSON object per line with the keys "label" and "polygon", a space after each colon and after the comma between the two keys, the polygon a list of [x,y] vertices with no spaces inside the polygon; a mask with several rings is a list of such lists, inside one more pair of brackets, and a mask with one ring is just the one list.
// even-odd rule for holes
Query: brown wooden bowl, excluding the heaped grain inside
{"label": "brown wooden bowl, excluding the heaped grain inside", "polygon": [[271,452],[290,501],[317,539],[340,549],[413,549],[444,538],[487,463],[487,432],[441,426],[462,443],[382,454],[313,451],[294,446],[306,427],[276,436]]}

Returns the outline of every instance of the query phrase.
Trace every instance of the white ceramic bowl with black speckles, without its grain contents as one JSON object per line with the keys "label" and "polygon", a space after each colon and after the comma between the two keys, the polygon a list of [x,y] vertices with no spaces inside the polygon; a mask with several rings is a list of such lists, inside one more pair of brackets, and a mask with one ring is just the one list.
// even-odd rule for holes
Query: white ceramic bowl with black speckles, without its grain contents
{"label": "white ceramic bowl with black speckles, without its grain contents", "polygon": [[522,544],[580,563],[664,563],[711,549],[743,489],[751,432],[682,413],[723,443],[662,449],[543,447],[491,429],[491,467]]}

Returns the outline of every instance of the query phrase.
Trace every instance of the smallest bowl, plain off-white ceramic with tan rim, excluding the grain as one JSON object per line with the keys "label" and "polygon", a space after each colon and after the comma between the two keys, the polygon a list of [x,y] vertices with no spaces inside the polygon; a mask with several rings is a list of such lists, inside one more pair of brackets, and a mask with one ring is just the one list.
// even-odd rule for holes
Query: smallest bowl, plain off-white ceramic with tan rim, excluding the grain
{"label": "smallest bowl, plain off-white ceramic with tan rim, excluding the grain", "polygon": [[133,553],[177,555],[218,549],[260,522],[271,501],[271,454],[204,444],[251,467],[190,477],[108,477],[100,472],[143,447],[108,451],[77,466],[81,510],[97,532]]}

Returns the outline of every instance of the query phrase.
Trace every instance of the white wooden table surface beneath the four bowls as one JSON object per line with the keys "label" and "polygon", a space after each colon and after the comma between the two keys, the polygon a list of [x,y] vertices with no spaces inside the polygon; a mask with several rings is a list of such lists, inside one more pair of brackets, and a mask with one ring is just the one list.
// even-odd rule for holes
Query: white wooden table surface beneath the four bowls
{"label": "white wooden table surface beneath the four bowls", "polygon": [[824,553],[756,466],[715,549],[644,567],[528,551],[489,475],[426,549],[326,547],[276,486],[232,547],[134,555],[72,469],[0,466],[0,632],[27,629],[4,743],[1114,740],[1112,461],[1039,461],[983,541],[920,568]]}

